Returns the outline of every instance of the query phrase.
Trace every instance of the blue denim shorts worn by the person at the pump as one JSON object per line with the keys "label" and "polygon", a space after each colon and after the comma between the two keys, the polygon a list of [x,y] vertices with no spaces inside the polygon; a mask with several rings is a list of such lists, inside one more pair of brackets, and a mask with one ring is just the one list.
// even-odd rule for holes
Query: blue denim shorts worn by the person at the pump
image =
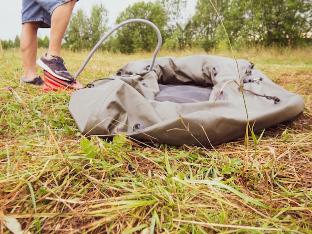
{"label": "blue denim shorts worn by the person at the pump", "polygon": [[51,26],[53,10],[71,0],[22,0],[21,23],[41,21],[40,27]]}

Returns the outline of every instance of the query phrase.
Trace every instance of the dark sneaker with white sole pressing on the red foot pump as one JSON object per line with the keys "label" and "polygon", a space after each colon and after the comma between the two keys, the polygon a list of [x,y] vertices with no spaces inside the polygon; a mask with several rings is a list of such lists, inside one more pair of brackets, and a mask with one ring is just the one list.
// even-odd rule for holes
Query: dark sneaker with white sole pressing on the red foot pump
{"label": "dark sneaker with white sole pressing on the red foot pump", "polygon": [[43,70],[46,70],[51,75],[58,79],[65,81],[73,81],[74,78],[67,71],[64,60],[58,56],[52,56],[54,58],[47,58],[46,52],[42,54],[40,58],[37,59],[37,65]]}

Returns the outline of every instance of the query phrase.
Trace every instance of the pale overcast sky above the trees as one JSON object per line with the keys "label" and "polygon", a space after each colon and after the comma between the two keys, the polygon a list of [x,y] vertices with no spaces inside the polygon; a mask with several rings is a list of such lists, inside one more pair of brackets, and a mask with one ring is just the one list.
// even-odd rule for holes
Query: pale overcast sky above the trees
{"label": "pale overcast sky above the trees", "polygon": [[[3,0],[2,0],[3,1]],[[74,11],[81,8],[86,13],[91,12],[92,5],[102,3],[109,11],[110,24],[113,25],[119,13],[125,10],[129,5],[138,1],[149,0],[79,0],[75,5]],[[154,1],[154,0],[151,0]],[[21,30],[21,2],[22,0],[9,0],[2,2],[0,7],[0,39],[14,40],[16,35],[20,35]],[[40,28],[39,36],[43,38],[49,36],[49,29]]]}

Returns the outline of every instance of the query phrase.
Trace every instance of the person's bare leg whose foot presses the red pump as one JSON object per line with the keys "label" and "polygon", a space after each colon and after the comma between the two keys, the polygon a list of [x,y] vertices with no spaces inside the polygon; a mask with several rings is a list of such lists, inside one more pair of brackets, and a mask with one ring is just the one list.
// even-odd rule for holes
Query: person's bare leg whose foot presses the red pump
{"label": "person's bare leg whose foot presses the red pump", "polygon": [[61,43],[76,0],[68,1],[54,9],[51,16],[51,33],[47,57],[61,56]]}

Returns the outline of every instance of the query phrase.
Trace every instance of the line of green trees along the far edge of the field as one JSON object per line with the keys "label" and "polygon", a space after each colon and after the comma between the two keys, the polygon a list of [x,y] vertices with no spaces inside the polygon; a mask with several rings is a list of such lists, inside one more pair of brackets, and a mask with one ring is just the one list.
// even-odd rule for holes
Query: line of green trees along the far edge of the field
{"label": "line of green trees along the far edge of the field", "polygon": [[[311,0],[197,0],[188,13],[187,0],[156,0],[129,5],[116,19],[116,24],[133,18],[147,19],[158,27],[162,48],[202,48],[205,51],[228,46],[309,46],[312,45]],[[91,14],[78,9],[72,14],[64,36],[64,48],[91,49],[109,31],[108,10],[103,4],[93,5]],[[48,38],[38,40],[47,47]],[[18,45],[17,45],[18,44]],[[102,49],[133,53],[152,51],[157,36],[146,24],[127,24],[114,32]],[[2,41],[2,47],[19,46]]]}

